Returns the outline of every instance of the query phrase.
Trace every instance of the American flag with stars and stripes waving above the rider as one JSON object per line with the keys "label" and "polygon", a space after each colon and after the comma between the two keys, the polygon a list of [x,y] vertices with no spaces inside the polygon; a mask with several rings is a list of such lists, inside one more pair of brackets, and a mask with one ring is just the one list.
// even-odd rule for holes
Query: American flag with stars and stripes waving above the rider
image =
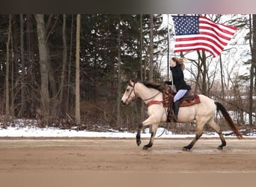
{"label": "American flag with stars and stripes waving above the rider", "polygon": [[175,29],[174,52],[204,50],[216,57],[237,30],[205,16],[172,16],[172,19]]}

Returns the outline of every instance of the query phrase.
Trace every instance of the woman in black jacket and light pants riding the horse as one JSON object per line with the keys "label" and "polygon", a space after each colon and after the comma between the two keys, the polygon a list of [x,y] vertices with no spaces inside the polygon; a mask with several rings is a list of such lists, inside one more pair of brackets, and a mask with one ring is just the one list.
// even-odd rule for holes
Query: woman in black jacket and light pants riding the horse
{"label": "woman in black jacket and light pants riding the horse", "polygon": [[[183,70],[185,69],[185,65],[183,62],[183,58],[173,57],[171,58],[171,73],[173,83],[175,85],[177,93],[174,96],[174,121],[177,122],[177,114],[180,108],[180,99],[186,94],[187,91],[191,90],[189,85],[186,85],[184,80]],[[165,81],[165,84],[171,85],[172,82]]]}

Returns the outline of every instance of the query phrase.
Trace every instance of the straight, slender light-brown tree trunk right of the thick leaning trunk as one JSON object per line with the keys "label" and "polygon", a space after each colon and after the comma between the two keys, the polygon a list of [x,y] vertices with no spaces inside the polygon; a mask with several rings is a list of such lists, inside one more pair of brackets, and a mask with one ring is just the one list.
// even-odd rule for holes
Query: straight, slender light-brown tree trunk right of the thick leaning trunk
{"label": "straight, slender light-brown tree trunk right of the thick leaning trunk", "polygon": [[81,15],[76,16],[76,125],[81,123],[80,117],[80,80],[79,80],[79,66],[80,66],[80,22]]}

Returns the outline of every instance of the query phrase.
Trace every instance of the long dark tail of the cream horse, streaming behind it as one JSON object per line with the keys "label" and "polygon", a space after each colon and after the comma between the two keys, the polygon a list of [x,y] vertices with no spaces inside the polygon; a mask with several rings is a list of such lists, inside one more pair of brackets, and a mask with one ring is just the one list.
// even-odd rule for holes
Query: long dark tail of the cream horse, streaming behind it
{"label": "long dark tail of the cream horse, streaming behind it", "polygon": [[224,116],[225,120],[228,122],[228,125],[237,135],[237,138],[243,139],[243,135],[239,132],[239,130],[237,129],[237,126],[235,126],[235,124],[233,123],[233,120],[231,119],[231,116],[228,114],[228,111],[226,110],[226,108],[220,102],[214,102],[214,103],[217,106],[217,111],[222,111],[222,115]]}

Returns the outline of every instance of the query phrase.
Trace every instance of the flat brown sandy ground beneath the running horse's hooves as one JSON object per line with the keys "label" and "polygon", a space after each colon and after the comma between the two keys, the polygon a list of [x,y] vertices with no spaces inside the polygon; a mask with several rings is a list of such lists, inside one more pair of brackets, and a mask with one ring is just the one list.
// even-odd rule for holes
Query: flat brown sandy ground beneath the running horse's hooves
{"label": "flat brown sandy ground beneath the running horse's hooves", "polygon": [[[34,186],[35,183],[47,186],[49,180],[56,180],[57,184],[67,180],[59,185],[69,186],[70,183],[73,186],[73,183],[85,179],[87,183],[105,183],[105,174],[109,175],[105,180],[121,180],[122,177],[129,180],[130,177],[132,181],[135,179],[133,175],[140,175],[140,179],[145,175],[147,182],[151,179],[150,174],[154,177],[170,177],[171,174],[173,182],[176,174],[204,173],[204,179],[212,179],[210,174],[219,177],[227,173],[255,176],[255,138],[242,141],[227,138],[224,150],[216,149],[219,139],[201,138],[191,151],[182,151],[190,141],[191,138],[158,138],[151,149],[141,150],[142,146],[137,147],[132,138],[2,138],[0,180],[4,186]],[[142,139],[142,144],[147,142],[148,139]],[[100,181],[99,174],[103,174]],[[42,179],[44,182],[39,183]],[[231,179],[234,181],[234,177]]]}

